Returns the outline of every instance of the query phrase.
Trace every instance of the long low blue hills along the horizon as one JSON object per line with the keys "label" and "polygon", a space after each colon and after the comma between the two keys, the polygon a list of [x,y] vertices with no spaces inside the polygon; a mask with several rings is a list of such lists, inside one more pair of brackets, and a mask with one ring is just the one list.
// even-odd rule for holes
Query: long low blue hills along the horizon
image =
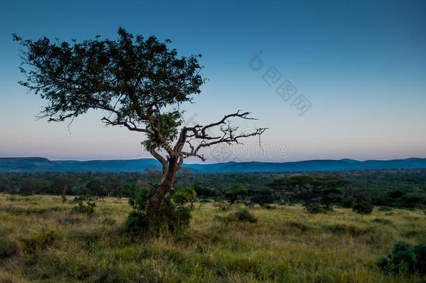
{"label": "long low blue hills along the horizon", "polygon": [[[0,172],[143,172],[159,168],[155,159],[51,161],[42,157],[0,158]],[[184,164],[194,173],[307,172],[369,169],[426,168],[426,159],[394,160],[308,160],[294,162],[226,162],[217,164]]]}

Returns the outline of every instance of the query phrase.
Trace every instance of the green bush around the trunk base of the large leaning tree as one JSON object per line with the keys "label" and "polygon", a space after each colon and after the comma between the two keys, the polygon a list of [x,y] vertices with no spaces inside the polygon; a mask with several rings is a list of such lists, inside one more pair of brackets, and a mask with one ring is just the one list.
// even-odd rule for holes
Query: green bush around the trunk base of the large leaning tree
{"label": "green bush around the trunk base of the large leaning tree", "polygon": [[153,193],[154,188],[144,187],[135,194],[135,198],[129,200],[133,212],[128,215],[124,222],[124,231],[151,234],[165,231],[175,233],[189,226],[193,203],[198,200],[192,187],[182,187],[172,191],[163,199],[154,219],[148,220],[146,215],[147,204]]}

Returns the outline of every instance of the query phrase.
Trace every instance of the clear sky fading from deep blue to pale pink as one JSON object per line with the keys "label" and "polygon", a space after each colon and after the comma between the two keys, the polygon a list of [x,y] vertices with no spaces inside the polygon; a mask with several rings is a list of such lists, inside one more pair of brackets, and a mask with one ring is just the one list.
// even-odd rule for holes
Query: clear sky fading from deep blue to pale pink
{"label": "clear sky fading from deep blue to pale pink", "polygon": [[[17,85],[11,34],[116,38],[118,27],[203,55],[209,80],[188,119],[213,122],[242,109],[259,118],[243,128],[270,128],[262,138],[269,151],[247,140],[210,162],[426,157],[425,1],[8,0],[0,2],[0,156],[145,157],[142,137],[106,128],[101,113],[78,117],[71,133],[67,123],[36,121],[44,101]],[[259,51],[263,68],[253,71]],[[281,77],[270,87],[263,75],[272,67]],[[275,92],[284,80],[297,89],[288,101]],[[291,105],[300,94],[311,103],[302,116]]]}

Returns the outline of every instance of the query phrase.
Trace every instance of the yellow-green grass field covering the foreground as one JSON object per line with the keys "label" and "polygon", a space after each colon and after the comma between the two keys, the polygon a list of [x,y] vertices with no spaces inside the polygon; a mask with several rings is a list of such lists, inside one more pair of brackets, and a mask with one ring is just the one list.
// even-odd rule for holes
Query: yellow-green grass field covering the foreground
{"label": "yellow-green grass field covering the foreground", "polygon": [[249,224],[205,204],[187,234],[135,241],[119,233],[125,198],[96,204],[87,217],[59,196],[0,194],[0,282],[425,282],[375,266],[397,240],[425,242],[422,210],[253,208]]}

